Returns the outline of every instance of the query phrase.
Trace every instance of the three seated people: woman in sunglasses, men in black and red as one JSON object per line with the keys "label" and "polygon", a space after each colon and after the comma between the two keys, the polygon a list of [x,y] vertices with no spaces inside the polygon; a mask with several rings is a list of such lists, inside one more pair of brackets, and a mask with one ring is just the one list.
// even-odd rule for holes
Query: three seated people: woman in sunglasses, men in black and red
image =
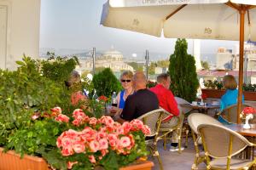
{"label": "three seated people: woman in sunglasses, men in black and red", "polygon": [[[168,74],[160,74],[154,88],[147,88],[147,78],[143,71],[137,71],[134,75],[131,71],[125,71],[120,77],[120,82],[124,90],[117,96],[118,106],[112,107],[110,111],[117,122],[131,121],[161,107],[174,115],[166,116],[161,127],[177,125],[177,116],[180,115],[177,102],[169,90],[171,78]],[[177,150],[177,132],[172,133],[171,150]]]}

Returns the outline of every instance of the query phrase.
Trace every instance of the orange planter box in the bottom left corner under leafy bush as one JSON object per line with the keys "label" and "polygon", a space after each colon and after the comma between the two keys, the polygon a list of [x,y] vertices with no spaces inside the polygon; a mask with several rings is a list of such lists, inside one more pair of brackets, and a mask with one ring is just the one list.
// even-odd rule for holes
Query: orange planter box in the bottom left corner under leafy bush
{"label": "orange planter box in the bottom left corner under leafy bush", "polygon": [[1,170],[49,170],[48,164],[43,158],[37,156],[24,156],[20,159],[20,155],[15,151],[9,150],[4,153],[0,148],[0,169]]}

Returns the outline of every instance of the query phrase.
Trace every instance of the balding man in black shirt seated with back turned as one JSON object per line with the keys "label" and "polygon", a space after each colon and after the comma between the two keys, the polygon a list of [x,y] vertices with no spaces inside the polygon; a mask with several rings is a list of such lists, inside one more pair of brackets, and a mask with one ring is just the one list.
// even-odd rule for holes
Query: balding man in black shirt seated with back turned
{"label": "balding man in black shirt seated with back turned", "polygon": [[131,121],[139,116],[159,109],[159,101],[156,95],[146,87],[147,79],[143,71],[138,71],[132,78],[135,93],[128,96],[125,108],[119,116],[118,122]]}

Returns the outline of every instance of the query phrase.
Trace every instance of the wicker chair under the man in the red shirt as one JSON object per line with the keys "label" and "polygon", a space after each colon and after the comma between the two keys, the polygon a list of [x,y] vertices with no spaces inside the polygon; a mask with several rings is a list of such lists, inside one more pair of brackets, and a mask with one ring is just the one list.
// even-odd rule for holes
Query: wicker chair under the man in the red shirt
{"label": "wicker chair under the man in the red shirt", "polygon": [[[165,123],[161,123],[160,125],[160,139],[164,139],[164,150],[166,150],[166,140],[167,139],[171,139],[170,133],[172,133],[174,130],[177,130],[177,139],[178,139],[178,152],[181,153],[181,135],[182,135],[182,127],[183,127],[183,112],[180,109],[179,110],[179,116],[175,116],[172,117],[172,119],[176,119],[177,120],[177,124],[171,124],[171,126],[168,124],[168,122]],[[170,116],[172,115],[171,113],[169,113],[168,111],[163,109],[163,119],[166,118],[166,116]]]}

